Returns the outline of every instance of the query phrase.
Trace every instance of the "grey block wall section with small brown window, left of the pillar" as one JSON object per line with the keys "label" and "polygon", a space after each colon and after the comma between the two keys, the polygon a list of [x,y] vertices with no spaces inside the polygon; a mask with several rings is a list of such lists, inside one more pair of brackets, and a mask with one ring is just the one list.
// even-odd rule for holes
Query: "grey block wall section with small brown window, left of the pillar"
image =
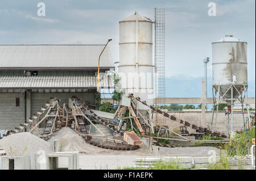
{"label": "grey block wall section with small brown window, left of the pillar", "polygon": [[[19,107],[16,107],[19,98]],[[0,94],[0,129],[14,129],[24,123],[25,101],[21,93]]]}

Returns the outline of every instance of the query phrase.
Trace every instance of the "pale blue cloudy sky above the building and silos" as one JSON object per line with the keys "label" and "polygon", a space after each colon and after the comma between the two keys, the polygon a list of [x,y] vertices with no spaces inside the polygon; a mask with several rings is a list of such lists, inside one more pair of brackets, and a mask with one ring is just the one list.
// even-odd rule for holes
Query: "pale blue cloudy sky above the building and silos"
{"label": "pale blue cloudy sky above the building and silos", "polygon": [[[38,2],[46,4],[46,16],[37,15]],[[216,16],[208,16],[209,2],[216,3]],[[255,80],[254,0],[0,0],[0,43],[103,44],[112,38],[118,60],[119,20],[135,10],[154,20],[154,7],[166,8],[167,77],[203,77],[202,61],[212,57],[211,43],[228,34],[248,42],[248,79]]]}

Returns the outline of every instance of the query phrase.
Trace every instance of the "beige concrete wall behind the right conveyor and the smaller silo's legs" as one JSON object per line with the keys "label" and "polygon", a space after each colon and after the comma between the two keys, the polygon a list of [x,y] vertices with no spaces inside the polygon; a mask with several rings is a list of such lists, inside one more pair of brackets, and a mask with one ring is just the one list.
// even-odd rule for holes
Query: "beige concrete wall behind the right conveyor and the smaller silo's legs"
{"label": "beige concrete wall behind the right conveyor and the smaller silo's legs", "polygon": [[[201,125],[201,111],[192,111],[192,112],[184,112],[184,111],[170,111],[168,112],[169,115],[174,115],[178,119],[182,119],[183,121],[188,120],[189,123],[195,124],[197,126]],[[245,117],[247,114],[245,114]],[[205,124],[206,126],[211,125],[212,122],[212,112],[207,111],[205,113]],[[215,117],[216,113],[214,113],[214,121],[213,121],[213,130],[215,130]],[[181,124],[179,124],[176,121],[173,121],[167,117],[164,117],[163,115],[158,114],[158,118],[160,120],[160,124],[162,125],[168,125],[171,130],[174,128],[179,128]],[[154,120],[155,120],[155,113],[154,113]],[[230,121],[231,121],[231,116],[230,116]],[[234,122],[233,122],[233,127],[235,129],[240,130],[243,127],[243,119],[242,119],[242,114],[241,113],[234,113]],[[228,133],[228,116],[225,116],[225,111],[219,111],[218,116],[217,116],[217,127],[216,130],[219,132],[224,132],[225,134]],[[195,132],[193,129],[188,128],[189,133]]]}

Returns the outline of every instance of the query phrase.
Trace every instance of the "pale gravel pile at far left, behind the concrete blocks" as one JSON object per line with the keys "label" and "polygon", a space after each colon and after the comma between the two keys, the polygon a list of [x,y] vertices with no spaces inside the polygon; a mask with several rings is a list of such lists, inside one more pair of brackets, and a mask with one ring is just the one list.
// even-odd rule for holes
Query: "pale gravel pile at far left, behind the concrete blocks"
{"label": "pale gravel pile at far left, behind the concrete blocks", "polygon": [[2,138],[0,148],[4,149],[7,155],[31,154],[39,150],[44,150],[46,154],[52,153],[51,144],[29,132],[11,134]]}

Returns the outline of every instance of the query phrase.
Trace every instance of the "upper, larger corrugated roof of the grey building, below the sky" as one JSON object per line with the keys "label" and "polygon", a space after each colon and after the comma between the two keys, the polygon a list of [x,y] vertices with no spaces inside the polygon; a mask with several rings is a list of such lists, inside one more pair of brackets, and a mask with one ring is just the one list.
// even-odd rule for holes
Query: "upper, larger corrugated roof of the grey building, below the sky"
{"label": "upper, larger corrugated roof of the grey building, below the sky", "polygon": [[[97,68],[105,45],[38,44],[0,45],[0,69]],[[100,59],[101,68],[114,68],[109,46]]]}

